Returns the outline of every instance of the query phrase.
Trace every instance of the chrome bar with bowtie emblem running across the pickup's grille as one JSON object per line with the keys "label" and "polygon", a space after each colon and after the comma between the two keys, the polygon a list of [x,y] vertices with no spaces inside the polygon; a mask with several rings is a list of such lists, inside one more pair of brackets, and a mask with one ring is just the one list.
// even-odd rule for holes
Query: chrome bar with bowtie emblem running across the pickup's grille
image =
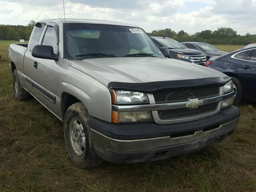
{"label": "chrome bar with bowtie emblem running across the pickup's grille", "polygon": [[195,104],[194,100],[189,100],[186,102],[163,103],[163,104],[113,105],[112,109],[114,111],[119,111],[119,112],[124,112],[124,111],[135,112],[135,111],[158,111],[158,110],[169,110],[169,109],[180,109],[180,108],[194,108],[196,106],[220,102],[222,100],[225,100],[234,96],[234,94],[235,92],[233,91],[228,94],[219,95],[219,96],[207,98],[207,99],[201,99],[197,101],[197,104]]}

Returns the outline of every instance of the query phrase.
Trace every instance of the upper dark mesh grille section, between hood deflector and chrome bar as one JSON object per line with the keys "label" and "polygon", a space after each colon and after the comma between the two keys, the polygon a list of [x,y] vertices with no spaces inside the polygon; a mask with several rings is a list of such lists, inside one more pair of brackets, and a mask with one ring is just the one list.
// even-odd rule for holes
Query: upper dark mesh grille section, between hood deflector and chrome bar
{"label": "upper dark mesh grille section, between hood deflector and chrome bar", "polygon": [[188,98],[208,98],[219,94],[219,86],[204,86],[196,88],[182,88],[174,90],[159,91],[154,93],[156,103],[179,102]]}

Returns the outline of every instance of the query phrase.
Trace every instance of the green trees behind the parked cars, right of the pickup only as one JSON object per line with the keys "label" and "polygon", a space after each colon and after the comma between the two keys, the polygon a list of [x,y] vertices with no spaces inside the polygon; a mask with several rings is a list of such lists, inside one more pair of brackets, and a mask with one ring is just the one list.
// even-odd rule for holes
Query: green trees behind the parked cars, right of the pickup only
{"label": "green trees behind the parked cars, right of the pickup only", "polygon": [[149,35],[165,36],[178,42],[206,42],[213,45],[247,45],[256,42],[256,34],[238,35],[232,28],[221,27],[218,30],[204,30],[195,34],[188,34],[184,30],[178,33],[170,28],[154,30]]}

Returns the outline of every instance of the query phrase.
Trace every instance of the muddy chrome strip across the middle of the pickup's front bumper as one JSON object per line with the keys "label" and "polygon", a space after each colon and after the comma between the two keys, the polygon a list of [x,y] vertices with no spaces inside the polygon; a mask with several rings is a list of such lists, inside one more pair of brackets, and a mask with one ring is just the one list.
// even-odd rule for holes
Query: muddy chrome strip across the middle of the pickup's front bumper
{"label": "muddy chrome strip across the middle of the pickup's front bumper", "polygon": [[150,138],[150,139],[140,139],[140,140],[117,140],[105,136],[93,129],[91,129],[92,142],[95,147],[104,151],[109,149],[117,152],[137,152],[143,150],[153,150],[154,148],[171,146],[175,144],[182,144],[186,142],[192,142],[200,139],[204,139],[217,134],[226,134],[236,129],[238,125],[238,120],[233,120],[231,122],[221,124],[219,127],[209,130],[209,131],[198,131],[193,135],[181,136],[171,138],[170,136]]}

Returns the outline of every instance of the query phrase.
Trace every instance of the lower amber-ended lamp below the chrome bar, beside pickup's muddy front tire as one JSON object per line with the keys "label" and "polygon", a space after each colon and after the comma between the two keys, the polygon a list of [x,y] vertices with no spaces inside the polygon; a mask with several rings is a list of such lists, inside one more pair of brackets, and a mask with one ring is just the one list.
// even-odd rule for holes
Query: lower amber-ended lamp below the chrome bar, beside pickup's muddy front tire
{"label": "lower amber-ended lamp below the chrome bar, beside pickup's muddy front tire", "polygon": [[116,112],[112,111],[112,123],[135,123],[150,122],[152,116],[150,111],[140,112]]}

